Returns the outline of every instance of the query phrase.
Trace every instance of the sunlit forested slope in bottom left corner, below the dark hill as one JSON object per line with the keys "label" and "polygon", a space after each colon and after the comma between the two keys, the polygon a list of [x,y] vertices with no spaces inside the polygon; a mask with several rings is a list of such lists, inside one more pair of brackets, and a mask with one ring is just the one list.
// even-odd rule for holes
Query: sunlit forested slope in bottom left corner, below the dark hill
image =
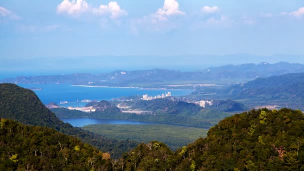
{"label": "sunlit forested slope in bottom left corner, below the dark hill", "polygon": [[110,155],[78,138],[0,118],[0,170],[109,170]]}

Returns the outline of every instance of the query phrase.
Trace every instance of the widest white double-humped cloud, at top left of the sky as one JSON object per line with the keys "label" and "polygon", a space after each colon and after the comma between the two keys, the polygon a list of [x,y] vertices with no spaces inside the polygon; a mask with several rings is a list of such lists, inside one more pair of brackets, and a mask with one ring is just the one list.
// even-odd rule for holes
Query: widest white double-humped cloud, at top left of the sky
{"label": "widest white double-humped cloud, at top left of the sky", "polygon": [[71,16],[79,16],[84,13],[98,16],[108,15],[112,19],[127,15],[127,12],[121,9],[116,1],[110,1],[108,4],[101,4],[99,7],[93,7],[85,0],[63,0],[57,6],[57,12]]}

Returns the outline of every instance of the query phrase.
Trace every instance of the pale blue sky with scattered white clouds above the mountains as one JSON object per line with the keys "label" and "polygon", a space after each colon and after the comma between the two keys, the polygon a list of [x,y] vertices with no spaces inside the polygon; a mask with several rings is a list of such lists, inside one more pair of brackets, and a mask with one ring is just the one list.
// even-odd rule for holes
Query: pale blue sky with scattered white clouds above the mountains
{"label": "pale blue sky with scattered white clouds above the mountains", "polygon": [[304,63],[303,0],[0,0],[0,71]]}

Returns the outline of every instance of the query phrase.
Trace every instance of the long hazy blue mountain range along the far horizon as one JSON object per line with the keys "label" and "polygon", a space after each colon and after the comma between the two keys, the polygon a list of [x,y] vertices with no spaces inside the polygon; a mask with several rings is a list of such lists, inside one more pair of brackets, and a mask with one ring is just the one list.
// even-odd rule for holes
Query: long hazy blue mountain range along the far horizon
{"label": "long hazy blue mountain range along the far horizon", "polygon": [[[224,65],[210,67],[200,71],[178,71],[167,69],[149,70],[116,70],[108,73],[90,74],[74,73],[64,75],[41,75],[41,76],[18,76],[5,78],[0,82],[11,82],[20,84],[42,84],[42,83],[72,83],[104,86],[127,86],[142,83],[163,83],[175,82],[215,82],[223,81],[231,83],[234,80],[249,80],[256,77],[266,77],[285,73],[304,72],[304,65],[298,63],[279,62],[269,64],[261,62],[258,64],[247,63],[240,65]],[[162,82],[162,84],[161,84]]]}

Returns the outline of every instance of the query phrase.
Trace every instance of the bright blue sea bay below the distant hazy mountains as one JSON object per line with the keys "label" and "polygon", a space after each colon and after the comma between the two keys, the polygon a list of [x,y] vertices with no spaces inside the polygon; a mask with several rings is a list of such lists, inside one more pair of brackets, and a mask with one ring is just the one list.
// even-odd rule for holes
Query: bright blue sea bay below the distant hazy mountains
{"label": "bright blue sea bay below the distant hazy mountains", "polygon": [[71,86],[69,84],[19,84],[24,88],[41,88],[33,90],[40,100],[47,104],[49,102],[58,103],[68,101],[61,106],[84,106],[86,102],[76,102],[77,99],[89,100],[112,100],[121,96],[148,94],[155,96],[170,91],[171,95],[186,95],[192,92],[190,89],[142,89],[142,88],[118,88],[118,87],[84,87]]}

